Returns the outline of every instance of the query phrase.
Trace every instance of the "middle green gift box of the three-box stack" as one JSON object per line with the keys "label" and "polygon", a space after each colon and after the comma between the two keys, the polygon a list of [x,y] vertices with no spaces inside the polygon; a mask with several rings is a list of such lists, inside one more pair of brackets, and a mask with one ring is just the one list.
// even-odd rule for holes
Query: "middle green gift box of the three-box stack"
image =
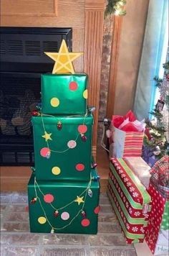
{"label": "middle green gift box of the three-box stack", "polygon": [[32,116],[37,180],[89,180],[93,116]]}

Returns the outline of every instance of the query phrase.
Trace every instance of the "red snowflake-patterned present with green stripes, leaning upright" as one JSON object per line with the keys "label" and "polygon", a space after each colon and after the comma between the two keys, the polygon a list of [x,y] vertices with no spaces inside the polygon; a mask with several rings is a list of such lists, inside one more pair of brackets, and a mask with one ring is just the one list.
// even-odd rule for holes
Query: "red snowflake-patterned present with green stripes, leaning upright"
{"label": "red snowflake-patterned present with green stripes, leaning upright", "polygon": [[143,242],[151,198],[122,158],[111,160],[107,193],[127,243]]}

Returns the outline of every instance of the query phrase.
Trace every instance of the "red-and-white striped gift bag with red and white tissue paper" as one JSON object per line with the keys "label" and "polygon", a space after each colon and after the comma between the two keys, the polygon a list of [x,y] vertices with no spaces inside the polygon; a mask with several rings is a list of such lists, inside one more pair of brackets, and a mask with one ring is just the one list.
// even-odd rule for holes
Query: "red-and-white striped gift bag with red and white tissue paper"
{"label": "red-and-white striped gift bag with red and white tissue paper", "polygon": [[142,155],[145,123],[139,122],[132,111],[125,116],[112,116],[113,157]]}

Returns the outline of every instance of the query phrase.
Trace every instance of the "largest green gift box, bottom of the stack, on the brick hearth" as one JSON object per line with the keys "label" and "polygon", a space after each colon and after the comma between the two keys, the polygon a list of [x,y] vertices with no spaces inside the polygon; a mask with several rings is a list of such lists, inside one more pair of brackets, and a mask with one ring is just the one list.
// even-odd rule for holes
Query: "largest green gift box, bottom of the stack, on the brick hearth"
{"label": "largest green gift box, bottom of the stack, on the brick hearth", "polygon": [[29,180],[31,232],[97,234],[100,183],[95,170],[87,182]]}

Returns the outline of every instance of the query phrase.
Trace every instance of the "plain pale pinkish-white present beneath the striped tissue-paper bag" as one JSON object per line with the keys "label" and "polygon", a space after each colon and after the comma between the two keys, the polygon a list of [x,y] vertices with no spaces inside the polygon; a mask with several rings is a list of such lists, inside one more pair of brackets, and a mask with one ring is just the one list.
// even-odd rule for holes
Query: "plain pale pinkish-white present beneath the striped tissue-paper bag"
{"label": "plain pale pinkish-white present beneath the striped tissue-paper bag", "polygon": [[137,175],[141,183],[148,188],[150,183],[150,166],[145,163],[142,157],[125,157],[125,162],[130,166],[132,171]]}

